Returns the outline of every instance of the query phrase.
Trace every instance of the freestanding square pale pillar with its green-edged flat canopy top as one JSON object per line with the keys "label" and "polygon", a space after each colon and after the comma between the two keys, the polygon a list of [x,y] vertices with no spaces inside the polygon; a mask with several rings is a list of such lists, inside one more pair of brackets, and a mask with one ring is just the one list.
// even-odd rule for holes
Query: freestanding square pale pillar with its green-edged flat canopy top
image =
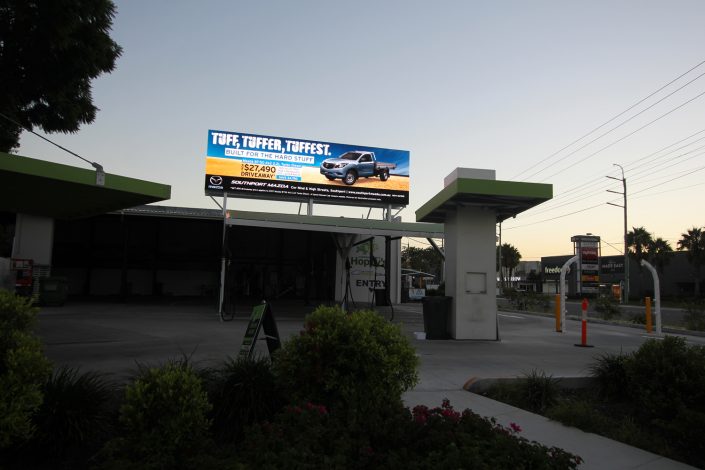
{"label": "freestanding square pale pillar with its green-edged flat canopy top", "polygon": [[498,340],[496,223],[553,197],[550,184],[498,181],[494,170],[456,168],[416,211],[417,222],[445,224],[446,294],[455,339]]}

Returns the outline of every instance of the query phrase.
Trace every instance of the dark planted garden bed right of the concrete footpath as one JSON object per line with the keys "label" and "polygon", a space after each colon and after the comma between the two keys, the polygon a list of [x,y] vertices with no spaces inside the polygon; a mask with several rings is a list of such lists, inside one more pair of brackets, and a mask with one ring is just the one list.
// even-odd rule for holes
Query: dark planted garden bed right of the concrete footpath
{"label": "dark planted garden bed right of the concrete footpath", "polygon": [[[576,386],[577,385],[577,386]],[[606,354],[588,381],[540,371],[479,384],[475,393],[586,432],[705,468],[705,347],[649,340],[629,355]]]}

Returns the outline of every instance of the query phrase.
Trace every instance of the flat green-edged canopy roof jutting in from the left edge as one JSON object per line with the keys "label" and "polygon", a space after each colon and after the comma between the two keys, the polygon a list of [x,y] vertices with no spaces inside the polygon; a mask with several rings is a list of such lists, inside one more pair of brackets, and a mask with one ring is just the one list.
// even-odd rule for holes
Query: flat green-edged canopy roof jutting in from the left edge
{"label": "flat green-edged canopy roof jutting in from the left edge", "polygon": [[171,186],[0,152],[0,211],[71,219],[164,201]]}

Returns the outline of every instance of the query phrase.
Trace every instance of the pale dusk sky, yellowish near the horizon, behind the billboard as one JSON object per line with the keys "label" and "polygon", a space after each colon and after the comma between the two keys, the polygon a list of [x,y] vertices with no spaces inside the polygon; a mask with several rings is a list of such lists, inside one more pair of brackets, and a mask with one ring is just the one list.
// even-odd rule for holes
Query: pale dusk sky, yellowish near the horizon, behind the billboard
{"label": "pale dusk sky, yellowish near the horizon, behind the billboard", "polygon": [[[550,183],[551,202],[502,226],[524,259],[570,253],[588,232],[619,254],[614,164],[629,228],[675,247],[705,224],[693,203],[705,200],[702,0],[115,3],[123,54],[93,82],[96,120],[49,137],[110,173],[172,185],[170,205],[216,207],[203,195],[204,137],[233,129],[408,150],[404,221],[456,167]],[[18,153],[76,165],[27,133]]]}

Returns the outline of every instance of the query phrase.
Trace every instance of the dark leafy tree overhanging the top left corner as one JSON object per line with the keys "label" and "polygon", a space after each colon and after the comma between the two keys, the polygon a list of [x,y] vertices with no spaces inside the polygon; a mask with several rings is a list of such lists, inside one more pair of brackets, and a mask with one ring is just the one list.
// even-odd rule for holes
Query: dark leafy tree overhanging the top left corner
{"label": "dark leafy tree overhanging the top left corner", "polygon": [[[2,0],[0,151],[24,128],[76,132],[95,119],[91,80],[115,67],[111,0]],[[10,121],[10,119],[12,121]]]}

